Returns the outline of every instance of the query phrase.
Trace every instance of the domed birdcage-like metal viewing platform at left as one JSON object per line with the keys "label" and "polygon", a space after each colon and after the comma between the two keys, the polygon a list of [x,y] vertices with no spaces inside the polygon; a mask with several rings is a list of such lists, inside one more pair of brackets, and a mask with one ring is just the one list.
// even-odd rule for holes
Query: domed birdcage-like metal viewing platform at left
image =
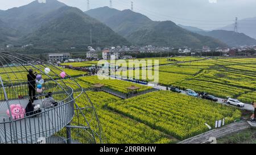
{"label": "domed birdcage-like metal viewing platform at left", "polygon": [[[65,73],[65,69],[19,53],[1,51],[0,54],[0,144],[35,144],[43,143],[42,141],[55,144],[62,143],[63,139],[68,144],[74,140],[102,143],[100,122],[95,108],[85,90]],[[36,82],[36,87],[32,89],[36,90],[35,96],[39,98],[34,104],[42,105],[41,99],[51,92],[58,102],[57,106],[41,106],[42,112],[38,114],[20,119],[10,118],[7,110],[11,104],[19,104],[23,108],[28,104],[31,95],[28,88],[29,76],[30,80]],[[76,88],[75,93],[72,87]],[[86,107],[86,111],[82,111],[84,108],[75,103],[77,98],[84,100],[81,104]],[[74,122],[71,124],[72,119]],[[96,128],[92,129],[90,126]],[[67,127],[66,132],[59,132],[64,127]],[[82,134],[77,134],[80,131]]]}

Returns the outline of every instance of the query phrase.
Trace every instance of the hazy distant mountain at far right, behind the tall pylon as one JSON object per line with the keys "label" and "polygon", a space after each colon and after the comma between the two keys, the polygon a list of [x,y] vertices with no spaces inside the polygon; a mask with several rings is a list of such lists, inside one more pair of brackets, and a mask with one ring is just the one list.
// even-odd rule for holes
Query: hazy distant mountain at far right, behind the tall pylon
{"label": "hazy distant mountain at far right, behind the tall pylon", "polygon": [[226,31],[226,30],[213,30],[213,31],[205,31],[196,27],[182,26],[188,31],[199,33],[203,36],[214,37],[225,44],[229,45],[229,47],[239,47],[242,45],[256,45],[256,40],[250,36],[245,35],[244,33],[237,33],[234,31]]}

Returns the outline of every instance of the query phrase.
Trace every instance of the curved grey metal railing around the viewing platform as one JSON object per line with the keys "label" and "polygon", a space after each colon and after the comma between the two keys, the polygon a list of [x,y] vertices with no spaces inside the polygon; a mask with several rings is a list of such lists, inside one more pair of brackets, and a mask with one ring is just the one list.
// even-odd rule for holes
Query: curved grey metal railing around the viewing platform
{"label": "curved grey metal railing around the viewing platform", "polygon": [[[73,89],[66,86],[68,90],[65,90],[64,92],[62,89],[52,85],[51,83],[46,83],[44,86],[46,86],[47,91],[52,91],[54,93],[54,98],[58,100],[57,106],[43,108],[40,113],[25,116],[24,118],[1,118],[0,144],[36,143],[40,137],[50,137],[71,122],[73,116],[75,115]],[[15,95],[11,95],[11,92],[15,91],[16,86],[4,87],[5,91],[9,92],[8,94],[10,99],[15,99],[18,101],[20,100]],[[24,89],[24,91],[20,91],[20,93],[23,95],[23,99],[28,100],[28,95],[26,92],[27,85],[21,84],[17,85],[17,87],[21,87],[21,90]],[[41,94],[39,95],[39,98],[42,98],[43,96],[44,94]],[[2,102],[2,104],[5,104],[6,102],[7,101]]]}

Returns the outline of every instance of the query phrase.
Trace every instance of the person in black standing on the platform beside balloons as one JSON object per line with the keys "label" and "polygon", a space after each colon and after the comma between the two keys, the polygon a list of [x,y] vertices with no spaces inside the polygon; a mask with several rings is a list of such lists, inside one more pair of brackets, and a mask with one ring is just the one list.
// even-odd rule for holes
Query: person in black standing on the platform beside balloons
{"label": "person in black standing on the platform beside balloons", "polygon": [[30,99],[36,100],[37,98],[35,97],[35,90],[36,90],[36,75],[33,73],[33,70],[30,69],[28,70],[27,74],[27,84],[28,84],[28,95]]}

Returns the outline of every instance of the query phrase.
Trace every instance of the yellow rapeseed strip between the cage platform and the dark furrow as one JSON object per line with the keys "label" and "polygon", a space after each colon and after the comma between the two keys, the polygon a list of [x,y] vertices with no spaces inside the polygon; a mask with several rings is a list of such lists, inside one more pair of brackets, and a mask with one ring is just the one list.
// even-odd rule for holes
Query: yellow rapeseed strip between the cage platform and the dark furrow
{"label": "yellow rapeseed strip between the cage platform and the dark furrow", "polygon": [[[92,99],[92,102],[96,107],[98,118],[102,127],[102,133],[104,134],[103,137],[105,143],[152,144],[174,143],[176,141],[176,139],[167,138],[167,135],[163,132],[152,129],[143,123],[139,123],[136,120],[127,118],[121,114],[104,108],[106,104],[111,102],[117,102],[121,99],[104,92],[88,91],[87,94],[89,95],[90,99]],[[82,102],[84,102],[84,100],[77,100],[77,104],[80,107],[84,106]],[[92,128],[95,127],[96,126]]]}

